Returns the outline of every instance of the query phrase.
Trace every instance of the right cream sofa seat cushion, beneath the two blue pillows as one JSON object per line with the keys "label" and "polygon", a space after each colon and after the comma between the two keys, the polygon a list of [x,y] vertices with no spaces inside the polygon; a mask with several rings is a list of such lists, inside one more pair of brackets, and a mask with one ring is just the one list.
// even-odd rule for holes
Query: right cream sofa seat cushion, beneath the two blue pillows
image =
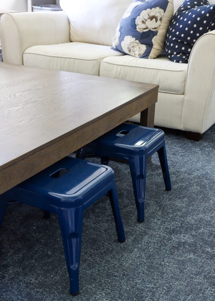
{"label": "right cream sofa seat cushion, beneath the two blue pillows", "polygon": [[100,65],[100,76],[158,84],[160,92],[184,94],[187,64],[171,62],[165,55],[141,60],[124,55],[106,57]]}

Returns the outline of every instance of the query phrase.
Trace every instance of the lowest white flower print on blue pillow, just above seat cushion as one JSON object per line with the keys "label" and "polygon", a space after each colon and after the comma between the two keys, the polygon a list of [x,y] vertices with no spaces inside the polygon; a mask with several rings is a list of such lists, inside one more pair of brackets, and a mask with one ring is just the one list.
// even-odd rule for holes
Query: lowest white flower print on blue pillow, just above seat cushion
{"label": "lowest white flower print on blue pillow, just above seat cushion", "polygon": [[146,51],[146,45],[141,44],[131,36],[125,36],[121,46],[125,53],[130,54],[133,57],[140,57]]}

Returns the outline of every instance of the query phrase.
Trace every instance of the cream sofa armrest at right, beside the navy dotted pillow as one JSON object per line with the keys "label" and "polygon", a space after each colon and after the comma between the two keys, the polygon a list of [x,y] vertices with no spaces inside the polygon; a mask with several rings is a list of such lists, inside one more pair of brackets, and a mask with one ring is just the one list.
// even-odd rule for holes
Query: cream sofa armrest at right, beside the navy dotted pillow
{"label": "cream sofa armrest at right, beside the navy dotted pillow", "polygon": [[215,123],[215,30],[201,36],[190,54],[181,130],[204,133]]}

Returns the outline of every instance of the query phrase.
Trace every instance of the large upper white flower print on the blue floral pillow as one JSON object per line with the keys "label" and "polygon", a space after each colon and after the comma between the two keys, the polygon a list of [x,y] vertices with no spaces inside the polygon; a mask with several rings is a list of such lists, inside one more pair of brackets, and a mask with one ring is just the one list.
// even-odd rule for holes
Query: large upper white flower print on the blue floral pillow
{"label": "large upper white flower print on the blue floral pillow", "polygon": [[141,14],[136,18],[137,31],[158,31],[162,19],[164,17],[164,10],[159,7],[148,8],[143,10]]}

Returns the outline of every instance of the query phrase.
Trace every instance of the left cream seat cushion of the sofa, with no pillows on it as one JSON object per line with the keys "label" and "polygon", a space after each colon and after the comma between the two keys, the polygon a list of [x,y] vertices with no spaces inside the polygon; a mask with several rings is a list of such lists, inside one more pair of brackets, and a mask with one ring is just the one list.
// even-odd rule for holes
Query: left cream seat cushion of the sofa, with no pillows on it
{"label": "left cream seat cushion of the sofa, with no pillows on it", "polygon": [[109,46],[70,42],[38,45],[25,50],[23,64],[99,76],[100,63],[105,57],[119,56]]}

